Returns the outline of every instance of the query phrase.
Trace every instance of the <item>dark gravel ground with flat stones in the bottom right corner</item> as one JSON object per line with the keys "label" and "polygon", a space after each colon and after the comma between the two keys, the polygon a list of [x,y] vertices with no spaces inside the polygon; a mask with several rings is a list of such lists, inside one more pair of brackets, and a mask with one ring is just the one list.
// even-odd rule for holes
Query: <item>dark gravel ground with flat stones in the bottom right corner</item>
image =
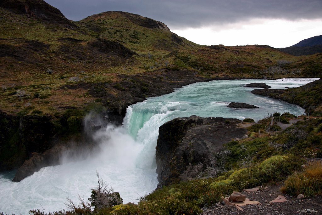
{"label": "dark gravel ground with flat stones in the bottom right corner", "polygon": [[322,214],[322,196],[314,196],[303,200],[298,200],[297,196],[285,195],[287,201],[275,202],[272,205],[269,203],[271,200],[276,199],[279,195],[281,185],[272,185],[267,187],[260,187],[256,192],[241,192],[246,195],[246,198],[252,198],[259,201],[258,205],[244,205],[241,206],[242,210],[238,210],[232,205],[223,205],[218,202],[217,205],[202,208],[203,212],[199,215],[293,215],[293,214]]}

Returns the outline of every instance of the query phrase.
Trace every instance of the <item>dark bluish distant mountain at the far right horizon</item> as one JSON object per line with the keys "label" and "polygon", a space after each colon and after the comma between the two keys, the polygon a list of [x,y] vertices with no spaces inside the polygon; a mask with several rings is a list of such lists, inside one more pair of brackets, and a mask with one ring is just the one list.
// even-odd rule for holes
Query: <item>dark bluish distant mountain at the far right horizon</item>
{"label": "dark bluish distant mountain at the far right horizon", "polygon": [[295,56],[322,53],[322,35],[310,37],[295,45],[279,50]]}

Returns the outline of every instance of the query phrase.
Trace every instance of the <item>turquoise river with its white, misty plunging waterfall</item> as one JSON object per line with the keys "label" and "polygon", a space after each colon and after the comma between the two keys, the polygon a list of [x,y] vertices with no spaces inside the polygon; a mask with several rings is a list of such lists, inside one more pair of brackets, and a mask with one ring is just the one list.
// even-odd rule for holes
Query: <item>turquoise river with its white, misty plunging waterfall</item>
{"label": "turquoise river with its white, misty plunging waterfall", "polygon": [[[316,79],[265,80],[272,88],[297,87]],[[10,172],[0,174],[0,211],[28,214],[31,209],[46,212],[66,209],[67,198],[78,203],[78,194],[90,197],[90,189],[97,186],[96,170],[104,181],[119,192],[124,202],[137,199],[157,186],[155,147],[158,128],[176,117],[199,115],[256,121],[268,113],[304,113],[297,105],[250,93],[254,88],[246,83],[263,80],[215,80],[195,83],[174,93],[148,98],[127,109],[122,127],[107,126],[94,134],[99,149],[87,158],[62,158],[62,164],[42,168],[21,182],[11,182]],[[259,109],[235,110],[227,103],[244,102]]]}

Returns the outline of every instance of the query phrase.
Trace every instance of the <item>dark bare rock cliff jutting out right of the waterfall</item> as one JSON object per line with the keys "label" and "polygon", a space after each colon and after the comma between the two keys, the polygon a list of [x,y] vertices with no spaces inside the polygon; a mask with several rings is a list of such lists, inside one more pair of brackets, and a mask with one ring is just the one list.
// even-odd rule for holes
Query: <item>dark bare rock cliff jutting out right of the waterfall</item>
{"label": "dark bare rock cliff jutting out right of the waterfall", "polygon": [[159,185],[168,185],[192,176],[191,167],[205,164],[223,144],[242,138],[247,130],[242,121],[222,117],[191,116],[176,118],[159,128],[156,145],[156,172]]}

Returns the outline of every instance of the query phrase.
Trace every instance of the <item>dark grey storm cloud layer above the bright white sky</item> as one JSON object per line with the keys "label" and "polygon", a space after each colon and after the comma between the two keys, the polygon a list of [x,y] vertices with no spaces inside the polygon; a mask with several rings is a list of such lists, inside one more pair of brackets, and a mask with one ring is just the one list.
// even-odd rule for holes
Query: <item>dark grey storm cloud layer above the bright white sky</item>
{"label": "dark grey storm cloud layer above the bright white sky", "polygon": [[168,26],[200,27],[251,18],[322,18],[322,0],[45,0],[71,20],[105,11],[126,11]]}

